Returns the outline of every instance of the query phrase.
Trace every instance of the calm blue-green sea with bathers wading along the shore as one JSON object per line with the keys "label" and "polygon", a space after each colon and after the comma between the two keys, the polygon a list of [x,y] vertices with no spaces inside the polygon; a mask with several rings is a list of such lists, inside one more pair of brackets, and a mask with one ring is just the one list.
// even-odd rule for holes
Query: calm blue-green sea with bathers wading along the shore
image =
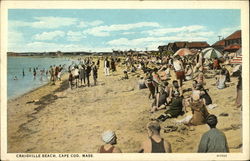
{"label": "calm blue-green sea with bathers wading along the shore", "polygon": [[[40,70],[48,70],[51,65],[64,65],[64,72],[72,64],[68,58],[8,57],[7,97],[16,98],[49,82],[49,74],[41,75]],[[36,77],[33,69],[38,68]],[[31,69],[31,71],[30,71]],[[23,76],[23,71],[25,76]],[[14,80],[14,78],[17,80]]]}

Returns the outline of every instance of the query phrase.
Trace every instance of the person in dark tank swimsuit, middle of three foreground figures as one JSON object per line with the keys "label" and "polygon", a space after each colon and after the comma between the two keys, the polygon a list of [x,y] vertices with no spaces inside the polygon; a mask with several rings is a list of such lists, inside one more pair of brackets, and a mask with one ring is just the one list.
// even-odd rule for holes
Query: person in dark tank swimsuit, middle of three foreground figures
{"label": "person in dark tank swimsuit, middle of three foreground figures", "polygon": [[142,143],[140,153],[171,153],[171,144],[161,135],[161,126],[157,121],[147,124],[148,138]]}

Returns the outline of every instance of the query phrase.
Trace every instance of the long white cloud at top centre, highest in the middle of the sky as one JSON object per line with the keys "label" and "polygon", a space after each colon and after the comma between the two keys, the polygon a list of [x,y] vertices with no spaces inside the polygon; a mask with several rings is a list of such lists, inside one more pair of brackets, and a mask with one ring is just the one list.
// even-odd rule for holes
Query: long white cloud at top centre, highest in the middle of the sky
{"label": "long white cloud at top centre, highest in the middle of the sky", "polygon": [[159,27],[160,25],[156,22],[138,22],[133,24],[114,24],[93,27],[84,31],[85,34],[90,34],[93,36],[109,36],[112,31],[127,31],[142,27]]}

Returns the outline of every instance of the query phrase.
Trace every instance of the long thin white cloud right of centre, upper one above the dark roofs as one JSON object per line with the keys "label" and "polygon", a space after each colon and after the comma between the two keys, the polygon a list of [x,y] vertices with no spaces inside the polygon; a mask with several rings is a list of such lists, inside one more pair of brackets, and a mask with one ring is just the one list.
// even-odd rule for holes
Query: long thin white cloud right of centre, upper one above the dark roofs
{"label": "long thin white cloud right of centre, upper one above the dark roofs", "polygon": [[154,30],[143,31],[142,33],[149,34],[151,36],[162,36],[169,33],[177,33],[177,32],[193,32],[197,30],[205,29],[205,26],[200,25],[192,25],[192,26],[183,26],[183,27],[175,27],[175,28],[159,28]]}

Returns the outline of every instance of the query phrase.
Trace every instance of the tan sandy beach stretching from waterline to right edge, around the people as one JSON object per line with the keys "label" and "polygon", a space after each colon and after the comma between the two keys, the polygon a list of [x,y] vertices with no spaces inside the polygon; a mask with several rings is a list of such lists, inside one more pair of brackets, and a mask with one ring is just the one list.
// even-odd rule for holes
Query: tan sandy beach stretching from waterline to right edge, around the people
{"label": "tan sandy beach stretching from waterline to right edge, around the people", "polygon": [[[103,62],[102,62],[103,63]],[[139,90],[138,76],[129,74],[119,80],[123,68],[104,76],[99,69],[98,85],[68,89],[67,75],[56,85],[45,85],[17,99],[8,101],[8,153],[95,153],[101,144],[101,133],[114,130],[122,152],[136,153],[147,137],[146,124],[154,114],[149,112],[153,100],[148,89]],[[175,74],[171,73],[172,79]],[[93,79],[91,76],[91,83]],[[184,88],[191,86],[184,82]],[[209,113],[218,116],[218,129],[228,140],[230,152],[242,151],[242,111],[234,105],[237,79],[232,77],[229,87],[218,90],[214,78],[206,79],[206,88],[217,107]],[[186,93],[188,94],[188,93]],[[32,103],[27,103],[33,101]],[[219,116],[227,113],[228,116]],[[181,119],[182,116],[177,119]],[[195,153],[207,125],[182,127],[164,132],[170,119],[163,123],[162,136],[172,145],[173,153]]]}

